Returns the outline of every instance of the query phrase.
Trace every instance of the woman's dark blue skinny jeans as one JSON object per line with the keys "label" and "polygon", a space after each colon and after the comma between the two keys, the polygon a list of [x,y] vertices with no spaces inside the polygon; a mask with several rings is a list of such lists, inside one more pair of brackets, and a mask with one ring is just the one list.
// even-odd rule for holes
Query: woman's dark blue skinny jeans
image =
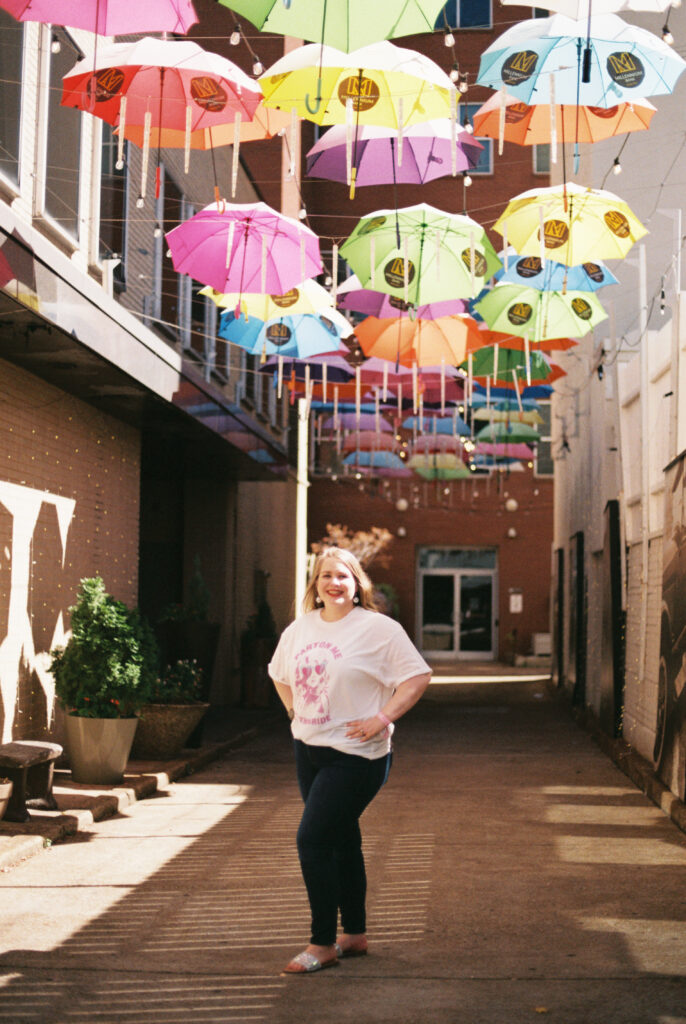
{"label": "woman's dark blue skinny jeans", "polygon": [[391,755],[369,758],[294,740],[298,784],[305,802],[297,843],[312,911],[310,942],[336,941],[367,931],[367,872],[359,817],[388,778]]}

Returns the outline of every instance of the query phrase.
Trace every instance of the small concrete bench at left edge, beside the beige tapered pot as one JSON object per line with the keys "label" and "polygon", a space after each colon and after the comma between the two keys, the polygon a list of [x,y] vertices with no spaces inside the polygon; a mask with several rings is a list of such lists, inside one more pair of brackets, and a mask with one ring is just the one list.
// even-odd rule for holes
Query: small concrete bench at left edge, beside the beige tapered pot
{"label": "small concrete bench at left edge, beside the beige tapered pot", "polygon": [[52,796],[52,776],[60,754],[59,743],[38,739],[15,739],[0,744],[0,775],[13,783],[4,821],[30,821],[30,807],[57,810]]}

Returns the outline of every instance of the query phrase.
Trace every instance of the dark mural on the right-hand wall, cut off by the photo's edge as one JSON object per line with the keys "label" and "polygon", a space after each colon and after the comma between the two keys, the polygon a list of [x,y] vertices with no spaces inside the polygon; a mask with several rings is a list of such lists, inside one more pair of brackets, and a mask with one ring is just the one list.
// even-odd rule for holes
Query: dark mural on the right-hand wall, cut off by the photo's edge
{"label": "dark mural on the right-hand wall, cut off by the photo's edge", "polygon": [[664,477],[662,607],[653,762],[660,778],[684,800],[686,790],[686,452]]}

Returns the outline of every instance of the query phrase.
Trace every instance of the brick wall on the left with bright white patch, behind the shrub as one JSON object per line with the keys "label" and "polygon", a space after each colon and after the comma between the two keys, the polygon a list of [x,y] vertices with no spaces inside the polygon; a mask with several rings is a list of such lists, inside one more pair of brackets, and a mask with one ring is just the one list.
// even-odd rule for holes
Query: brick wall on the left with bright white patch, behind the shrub
{"label": "brick wall on the left with bright white patch, behind the shrub", "polygon": [[45,733],[79,581],[138,592],[139,436],[0,360],[0,734]]}

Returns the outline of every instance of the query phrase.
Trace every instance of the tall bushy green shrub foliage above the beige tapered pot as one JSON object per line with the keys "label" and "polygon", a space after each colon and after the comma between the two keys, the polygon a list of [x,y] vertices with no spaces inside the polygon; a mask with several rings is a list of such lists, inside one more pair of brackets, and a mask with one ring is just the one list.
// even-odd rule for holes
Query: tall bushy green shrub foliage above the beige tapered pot
{"label": "tall bushy green shrub foliage above the beige tapered pot", "polygon": [[72,715],[131,718],[147,702],[158,672],[155,634],[137,609],[82,580],[70,608],[72,637],[50,652],[55,694]]}

